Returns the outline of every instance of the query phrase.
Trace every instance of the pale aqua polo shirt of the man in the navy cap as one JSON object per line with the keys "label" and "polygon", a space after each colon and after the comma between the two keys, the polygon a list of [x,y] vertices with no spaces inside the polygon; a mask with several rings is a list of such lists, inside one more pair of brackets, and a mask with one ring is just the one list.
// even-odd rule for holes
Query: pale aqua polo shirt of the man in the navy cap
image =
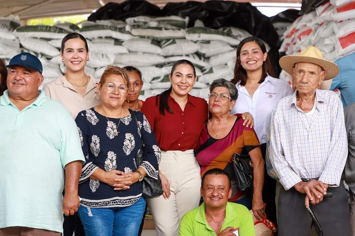
{"label": "pale aqua polo shirt of the man in the navy cap", "polygon": [[0,228],[62,232],[64,167],[84,156],[72,116],[39,93],[21,111],[0,97]]}

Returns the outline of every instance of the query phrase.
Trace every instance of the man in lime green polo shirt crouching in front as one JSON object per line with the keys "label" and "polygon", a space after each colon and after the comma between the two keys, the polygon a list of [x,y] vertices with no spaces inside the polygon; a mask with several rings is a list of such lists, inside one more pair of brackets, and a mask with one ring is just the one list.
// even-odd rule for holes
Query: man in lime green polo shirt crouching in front
{"label": "man in lime green polo shirt crouching in front", "polygon": [[201,183],[203,203],[184,215],[179,235],[255,236],[252,215],[246,207],[229,203],[231,194],[228,174],[208,170]]}

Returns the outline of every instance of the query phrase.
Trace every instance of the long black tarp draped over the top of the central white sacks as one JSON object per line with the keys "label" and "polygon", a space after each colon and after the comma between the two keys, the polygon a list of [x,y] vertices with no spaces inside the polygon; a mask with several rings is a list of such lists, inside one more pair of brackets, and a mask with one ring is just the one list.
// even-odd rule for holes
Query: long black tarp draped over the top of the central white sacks
{"label": "long black tarp draped over the top of the central white sacks", "polygon": [[189,17],[188,27],[201,20],[206,27],[234,26],[245,29],[262,38],[270,47],[276,47],[278,35],[270,19],[248,3],[211,0],[204,3],[188,1],[168,3],[163,9],[144,0],[127,0],[120,4],[108,3],[88,18],[96,20],[125,20],[135,16],[180,16]]}

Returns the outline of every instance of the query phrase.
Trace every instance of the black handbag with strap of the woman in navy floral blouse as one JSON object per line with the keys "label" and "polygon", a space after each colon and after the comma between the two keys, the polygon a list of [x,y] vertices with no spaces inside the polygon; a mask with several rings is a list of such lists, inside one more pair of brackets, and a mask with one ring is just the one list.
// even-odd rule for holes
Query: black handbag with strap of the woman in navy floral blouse
{"label": "black handbag with strap of the woman in navy floral blouse", "polygon": [[[137,121],[137,116],[135,115],[135,112],[131,109],[128,109],[129,112],[131,113],[132,118],[134,119],[135,123],[137,124],[137,127],[139,129],[139,124]],[[139,165],[143,162],[143,156],[144,156],[144,143],[142,141],[142,148],[138,152],[138,154],[134,157],[135,164],[137,165],[137,168]],[[158,178],[154,179],[150,177],[149,175],[145,176],[143,179],[143,190],[142,190],[142,195],[145,198],[156,198],[163,194],[163,187],[161,185],[161,179],[158,174]]]}

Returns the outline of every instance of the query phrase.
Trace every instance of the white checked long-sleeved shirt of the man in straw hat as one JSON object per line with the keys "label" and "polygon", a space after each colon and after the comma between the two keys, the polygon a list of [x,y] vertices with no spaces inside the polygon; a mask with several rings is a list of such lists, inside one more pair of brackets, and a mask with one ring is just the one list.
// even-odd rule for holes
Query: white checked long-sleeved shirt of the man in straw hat
{"label": "white checked long-sleeved shirt of the man in straw hat", "polygon": [[269,160],[286,190],[301,178],[319,178],[339,186],[347,158],[344,113],[332,91],[316,90],[315,112],[308,122],[296,106],[296,94],[283,98],[272,112]]}

